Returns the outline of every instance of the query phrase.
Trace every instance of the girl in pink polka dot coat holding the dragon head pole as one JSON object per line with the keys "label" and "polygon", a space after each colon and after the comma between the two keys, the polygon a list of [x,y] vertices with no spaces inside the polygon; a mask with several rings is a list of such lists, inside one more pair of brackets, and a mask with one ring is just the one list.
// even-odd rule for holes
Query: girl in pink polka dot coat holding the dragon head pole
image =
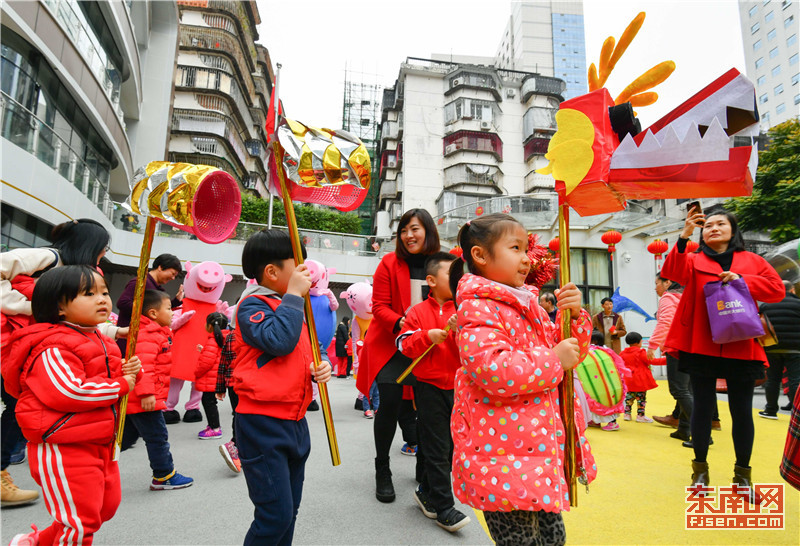
{"label": "girl in pink polka dot coat holding the dragon head pole", "polygon": [[[512,216],[467,222],[458,243],[463,261],[450,268],[461,358],[450,425],[453,488],[461,502],[484,511],[497,544],[563,544],[560,512],[569,510],[569,491],[558,385],[586,356],[591,317],[574,284],[556,290],[557,322],[571,311],[575,336],[559,342],[538,290],[524,285],[528,235]],[[588,483],[596,467],[577,398],[575,412],[576,466]]]}

